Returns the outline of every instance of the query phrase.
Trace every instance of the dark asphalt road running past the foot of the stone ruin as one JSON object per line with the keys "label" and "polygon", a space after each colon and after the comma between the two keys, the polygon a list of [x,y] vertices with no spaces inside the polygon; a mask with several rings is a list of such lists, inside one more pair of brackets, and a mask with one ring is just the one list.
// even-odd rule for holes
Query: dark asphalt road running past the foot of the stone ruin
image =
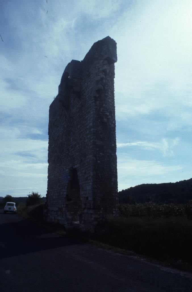
{"label": "dark asphalt road running past the foot of the stone ruin", "polygon": [[66,239],[0,210],[2,292],[188,292],[192,275]]}

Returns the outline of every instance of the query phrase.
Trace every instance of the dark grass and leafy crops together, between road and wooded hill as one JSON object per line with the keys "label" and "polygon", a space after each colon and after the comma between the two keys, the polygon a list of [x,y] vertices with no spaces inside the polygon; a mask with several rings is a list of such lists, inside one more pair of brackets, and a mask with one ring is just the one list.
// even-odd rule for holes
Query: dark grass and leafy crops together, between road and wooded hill
{"label": "dark grass and leafy crops together, between road and wooded hill", "polygon": [[99,239],[161,261],[192,264],[192,208],[188,204],[120,204]]}

